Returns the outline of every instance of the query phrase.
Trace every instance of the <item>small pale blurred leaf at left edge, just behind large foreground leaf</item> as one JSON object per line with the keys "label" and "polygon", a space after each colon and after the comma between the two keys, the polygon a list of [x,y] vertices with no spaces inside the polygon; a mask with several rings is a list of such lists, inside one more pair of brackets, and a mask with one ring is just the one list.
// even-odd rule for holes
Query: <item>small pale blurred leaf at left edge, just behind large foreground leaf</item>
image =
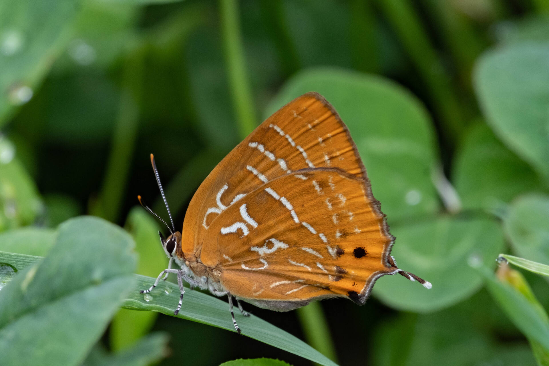
{"label": "small pale blurred leaf at left edge, just behind large foreground leaf", "polygon": [[53,246],[56,232],[41,227],[25,227],[0,233],[0,251],[45,256]]}

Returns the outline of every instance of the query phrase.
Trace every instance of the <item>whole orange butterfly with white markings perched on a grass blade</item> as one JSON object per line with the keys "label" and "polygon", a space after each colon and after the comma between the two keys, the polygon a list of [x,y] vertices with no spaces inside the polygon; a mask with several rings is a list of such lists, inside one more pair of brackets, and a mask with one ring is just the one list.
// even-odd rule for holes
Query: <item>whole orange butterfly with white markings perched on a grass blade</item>
{"label": "whole orange butterfly with white markings perched on a grass blade", "polygon": [[[228,295],[238,333],[233,296],[247,316],[238,300],[276,311],[339,296],[363,305],[385,274],[431,288],[396,266],[395,238],[349,129],[318,93],[283,106],[214,168],[189,204],[182,233],[150,158],[172,224],[167,239],[159,233],[170,262],[141,292],[176,273],[176,315],[183,280]],[[174,261],[181,269],[171,268]]]}

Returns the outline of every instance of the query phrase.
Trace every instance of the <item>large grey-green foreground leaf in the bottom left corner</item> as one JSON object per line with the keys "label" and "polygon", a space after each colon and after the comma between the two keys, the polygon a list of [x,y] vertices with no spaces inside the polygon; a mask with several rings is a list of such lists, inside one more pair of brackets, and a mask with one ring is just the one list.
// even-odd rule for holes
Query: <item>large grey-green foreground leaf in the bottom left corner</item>
{"label": "large grey-green foreground leaf in the bottom left corner", "polygon": [[0,255],[19,270],[0,292],[2,364],[80,364],[131,288],[132,246],[119,227],[79,217],[61,224],[48,256],[25,269],[37,257]]}

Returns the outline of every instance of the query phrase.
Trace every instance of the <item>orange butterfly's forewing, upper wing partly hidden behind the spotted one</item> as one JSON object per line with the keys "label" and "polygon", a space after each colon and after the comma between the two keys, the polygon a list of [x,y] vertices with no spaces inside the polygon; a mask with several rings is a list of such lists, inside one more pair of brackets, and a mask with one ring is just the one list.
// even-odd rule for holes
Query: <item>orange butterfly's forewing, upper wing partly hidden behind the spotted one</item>
{"label": "orange butterfly's forewing, upper wing partly hidden behind the spotted one", "polygon": [[200,185],[185,216],[182,251],[200,251],[212,222],[260,185],[284,174],[317,167],[337,167],[366,177],[337,112],[320,94],[307,93],[257,127]]}

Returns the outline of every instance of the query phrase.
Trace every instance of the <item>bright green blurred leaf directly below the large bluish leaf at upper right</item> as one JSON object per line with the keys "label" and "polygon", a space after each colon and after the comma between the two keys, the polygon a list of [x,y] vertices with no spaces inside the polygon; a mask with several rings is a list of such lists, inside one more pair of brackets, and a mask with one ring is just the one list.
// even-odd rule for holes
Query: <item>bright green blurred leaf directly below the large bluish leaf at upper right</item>
{"label": "bright green blurred leaf directly below the large bluish leaf at upper right", "polygon": [[468,130],[456,153],[452,177],[464,209],[494,210],[520,193],[544,190],[532,168],[483,123]]}

